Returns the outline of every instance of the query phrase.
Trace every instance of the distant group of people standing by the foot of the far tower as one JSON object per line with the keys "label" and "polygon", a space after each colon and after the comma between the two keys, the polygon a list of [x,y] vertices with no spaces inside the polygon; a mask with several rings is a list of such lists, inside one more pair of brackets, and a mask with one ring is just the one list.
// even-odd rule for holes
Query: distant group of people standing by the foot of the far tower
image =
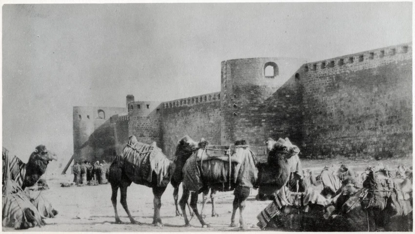
{"label": "distant group of people standing by the foot of the far tower", "polygon": [[[96,161],[91,164],[88,161],[83,161],[82,163],[76,162],[73,167],[74,173],[74,183],[75,184],[105,184],[107,183],[107,171],[109,165],[105,160],[102,160],[102,163]],[[102,175],[103,174],[103,175]]]}

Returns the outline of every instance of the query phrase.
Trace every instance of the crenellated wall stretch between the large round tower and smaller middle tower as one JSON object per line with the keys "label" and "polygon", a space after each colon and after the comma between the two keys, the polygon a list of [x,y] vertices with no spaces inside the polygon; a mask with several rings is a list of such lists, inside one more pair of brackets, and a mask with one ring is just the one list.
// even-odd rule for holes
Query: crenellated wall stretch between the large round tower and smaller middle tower
{"label": "crenellated wall stretch between the large round tower and smaller middle tower", "polygon": [[220,93],[183,98],[162,104],[163,152],[174,156],[179,139],[188,135],[220,144]]}

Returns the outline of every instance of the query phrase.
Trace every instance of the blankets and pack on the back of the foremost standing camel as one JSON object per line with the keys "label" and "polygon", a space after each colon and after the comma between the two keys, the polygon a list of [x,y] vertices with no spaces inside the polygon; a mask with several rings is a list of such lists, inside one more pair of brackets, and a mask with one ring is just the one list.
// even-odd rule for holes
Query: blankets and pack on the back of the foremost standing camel
{"label": "blankets and pack on the back of the foremost standing camel", "polygon": [[231,162],[230,167],[229,161],[198,161],[197,155],[189,157],[183,166],[183,185],[192,192],[198,192],[204,185],[229,182],[253,188],[258,174],[255,156],[248,147],[238,147],[232,157],[240,163]]}

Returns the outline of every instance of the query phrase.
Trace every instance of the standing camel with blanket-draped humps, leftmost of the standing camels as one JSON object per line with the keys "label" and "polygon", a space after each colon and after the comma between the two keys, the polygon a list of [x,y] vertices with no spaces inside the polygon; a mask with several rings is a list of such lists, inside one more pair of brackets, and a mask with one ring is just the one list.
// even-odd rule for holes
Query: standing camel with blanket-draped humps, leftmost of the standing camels
{"label": "standing camel with blanket-draped humps, leftmost of the standing camels", "polygon": [[162,226],[160,218],[161,195],[166,190],[173,175],[174,163],[156,146],[148,145],[131,136],[122,152],[116,156],[110,167],[111,201],[114,206],[115,221],[122,223],[117,212],[117,193],[121,193],[120,203],[131,223],[140,224],[131,216],[127,206],[127,188],[132,182],[153,189],[154,216],[153,224]]}

